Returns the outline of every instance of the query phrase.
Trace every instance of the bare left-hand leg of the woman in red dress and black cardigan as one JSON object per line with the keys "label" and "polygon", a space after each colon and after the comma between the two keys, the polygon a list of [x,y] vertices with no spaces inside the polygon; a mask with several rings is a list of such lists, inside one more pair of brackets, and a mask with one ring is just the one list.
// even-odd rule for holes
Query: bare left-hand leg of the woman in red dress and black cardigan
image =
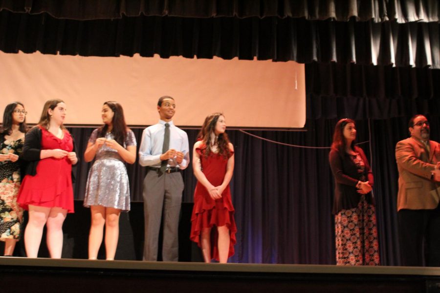
{"label": "bare left-hand leg of the woman in red dress and black cardigan", "polygon": [[24,230],[24,247],[27,257],[37,257],[43,236],[44,224],[49,216],[50,208],[29,205],[29,222]]}

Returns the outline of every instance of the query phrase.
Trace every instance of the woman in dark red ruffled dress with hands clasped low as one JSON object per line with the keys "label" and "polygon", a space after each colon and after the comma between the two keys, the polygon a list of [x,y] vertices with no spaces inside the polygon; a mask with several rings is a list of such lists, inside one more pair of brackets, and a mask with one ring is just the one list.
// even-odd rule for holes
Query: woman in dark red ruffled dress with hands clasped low
{"label": "woman in dark red ruffled dress with hands clasped low", "polygon": [[[225,133],[221,113],[206,117],[193,150],[193,169],[198,183],[191,217],[192,241],[205,262],[226,263],[234,254],[237,227],[229,182],[234,172],[234,147]],[[215,229],[212,229],[214,228]]]}

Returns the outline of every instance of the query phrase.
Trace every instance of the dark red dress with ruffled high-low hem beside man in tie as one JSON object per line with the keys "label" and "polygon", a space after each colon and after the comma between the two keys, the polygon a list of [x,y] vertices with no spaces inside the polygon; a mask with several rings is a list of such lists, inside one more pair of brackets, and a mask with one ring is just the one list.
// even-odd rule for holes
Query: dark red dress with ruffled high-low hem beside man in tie
{"label": "dark red dress with ruffled high-low hem beside man in tie", "polygon": [[[223,183],[224,175],[226,174],[226,166],[228,158],[233,155],[233,151],[228,153],[228,158],[224,158],[220,154],[210,153],[205,157],[205,145],[200,145],[196,148],[200,155],[201,167],[206,179],[214,185],[219,186]],[[208,190],[199,182],[194,190],[194,209],[191,216],[191,235],[192,241],[200,247],[200,231],[203,228],[212,228],[214,226],[227,226],[229,229],[229,253],[228,257],[234,255],[234,245],[237,242],[235,234],[237,233],[237,226],[234,219],[234,207],[231,201],[231,189],[228,186],[223,190],[220,199],[212,199]],[[217,229],[211,229],[211,257],[219,260]]]}

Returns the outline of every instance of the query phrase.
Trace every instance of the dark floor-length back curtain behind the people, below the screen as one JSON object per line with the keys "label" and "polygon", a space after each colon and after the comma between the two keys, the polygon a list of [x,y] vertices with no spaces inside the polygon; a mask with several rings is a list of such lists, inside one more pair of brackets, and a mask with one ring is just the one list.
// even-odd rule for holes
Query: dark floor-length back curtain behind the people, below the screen
{"label": "dark floor-length back curtain behind the people, below the screen", "polygon": [[[282,109],[280,109],[282,111]],[[410,117],[357,121],[358,142],[374,171],[377,221],[382,265],[399,265],[396,221],[396,142],[408,137]],[[439,116],[428,116],[431,138],[439,141]],[[276,142],[325,147],[337,119],[308,120],[308,131],[250,131]],[[69,128],[78,153],[84,152],[93,128]],[[143,129],[133,129],[138,143]],[[190,145],[197,130],[186,130]],[[371,133],[371,138],[370,138]],[[334,182],[328,148],[282,146],[228,131],[235,147],[235,172],[231,181],[238,226],[236,254],[231,262],[334,264],[334,223],[331,215]],[[76,199],[84,198],[89,164],[76,167]],[[132,200],[142,201],[145,168],[128,166]],[[183,201],[192,202],[196,179],[189,166],[182,172]]]}

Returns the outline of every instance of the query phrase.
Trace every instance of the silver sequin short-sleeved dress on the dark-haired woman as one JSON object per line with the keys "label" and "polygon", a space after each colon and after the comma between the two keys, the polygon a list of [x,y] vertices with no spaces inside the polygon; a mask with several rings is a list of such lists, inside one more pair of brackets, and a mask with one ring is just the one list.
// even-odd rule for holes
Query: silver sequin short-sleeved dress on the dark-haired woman
{"label": "silver sequin short-sleeved dress on the dark-haired woman", "polygon": [[[93,130],[89,143],[95,143],[98,129]],[[107,139],[114,139],[112,133]],[[136,146],[132,130],[127,132],[124,147]],[[103,206],[106,208],[130,210],[130,186],[125,162],[118,152],[108,146],[101,146],[95,155],[95,162],[88,172],[84,206]]]}

